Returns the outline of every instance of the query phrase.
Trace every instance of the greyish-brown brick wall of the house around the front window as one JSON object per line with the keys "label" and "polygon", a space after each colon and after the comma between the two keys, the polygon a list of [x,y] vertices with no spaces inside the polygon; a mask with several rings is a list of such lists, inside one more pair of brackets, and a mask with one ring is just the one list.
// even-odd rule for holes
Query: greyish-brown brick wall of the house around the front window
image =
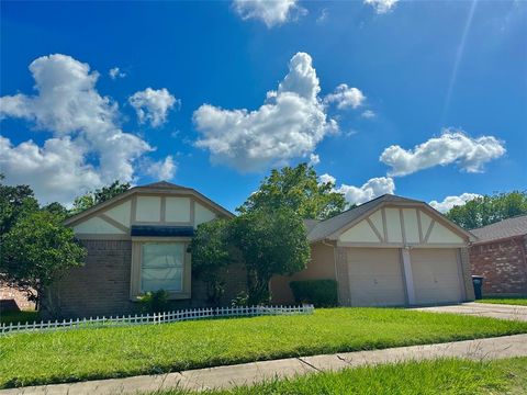
{"label": "greyish-brown brick wall of the house around the front window", "polygon": [[[58,317],[76,318],[141,313],[141,304],[130,300],[132,241],[83,240],[88,250],[86,264],[71,269],[66,278],[54,284],[43,297],[43,316],[49,317],[46,306],[53,304]],[[224,271],[227,292],[224,304],[245,287],[245,274],[239,264]],[[243,285],[242,285],[243,284]],[[170,308],[206,306],[203,282],[192,279],[192,298],[171,301]],[[51,296],[51,300],[49,300]]]}

